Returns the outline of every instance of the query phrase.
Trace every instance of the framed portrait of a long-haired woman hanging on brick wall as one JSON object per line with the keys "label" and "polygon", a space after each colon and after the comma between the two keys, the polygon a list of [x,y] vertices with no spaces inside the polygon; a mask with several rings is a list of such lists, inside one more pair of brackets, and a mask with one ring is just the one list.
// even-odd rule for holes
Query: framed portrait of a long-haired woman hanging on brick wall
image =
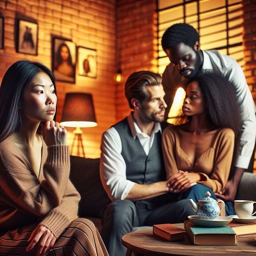
{"label": "framed portrait of a long-haired woman hanging on brick wall", "polygon": [[58,81],[75,83],[76,45],[70,40],[53,38],[52,70]]}

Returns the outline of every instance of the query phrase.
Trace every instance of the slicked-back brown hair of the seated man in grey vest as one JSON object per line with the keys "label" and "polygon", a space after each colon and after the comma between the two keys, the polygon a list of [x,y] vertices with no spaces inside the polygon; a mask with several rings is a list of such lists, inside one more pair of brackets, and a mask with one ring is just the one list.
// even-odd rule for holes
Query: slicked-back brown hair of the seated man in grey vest
{"label": "slicked-back brown hair of the seated man in grey vest", "polygon": [[149,95],[145,90],[149,85],[161,85],[162,77],[151,71],[138,71],[132,73],[126,80],[124,85],[125,97],[129,102],[129,106],[134,108],[131,102],[132,98],[139,101],[145,100]]}

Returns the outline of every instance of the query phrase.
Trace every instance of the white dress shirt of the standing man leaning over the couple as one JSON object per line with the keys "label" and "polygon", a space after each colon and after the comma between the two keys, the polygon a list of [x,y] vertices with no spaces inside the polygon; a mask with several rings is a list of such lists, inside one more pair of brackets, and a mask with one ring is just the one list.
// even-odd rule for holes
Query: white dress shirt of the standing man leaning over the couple
{"label": "white dress shirt of the standing man leaning over the couple", "polygon": [[[239,64],[216,50],[203,52],[203,70],[218,71],[234,86],[240,105],[242,127],[235,167],[247,169],[256,138],[255,104]],[[167,93],[186,80],[169,64],[163,74],[163,86]],[[223,109],[225,111],[225,109]]]}

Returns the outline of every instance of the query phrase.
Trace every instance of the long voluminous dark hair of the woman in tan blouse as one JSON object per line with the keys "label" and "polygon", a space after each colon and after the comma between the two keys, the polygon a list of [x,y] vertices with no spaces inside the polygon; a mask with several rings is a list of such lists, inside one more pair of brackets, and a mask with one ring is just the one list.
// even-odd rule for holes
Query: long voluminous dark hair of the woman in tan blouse
{"label": "long voluminous dark hair of the woman in tan blouse", "polygon": [[228,127],[236,138],[241,130],[241,115],[234,86],[220,73],[200,71],[188,81],[196,81],[207,102],[209,120],[216,127]]}

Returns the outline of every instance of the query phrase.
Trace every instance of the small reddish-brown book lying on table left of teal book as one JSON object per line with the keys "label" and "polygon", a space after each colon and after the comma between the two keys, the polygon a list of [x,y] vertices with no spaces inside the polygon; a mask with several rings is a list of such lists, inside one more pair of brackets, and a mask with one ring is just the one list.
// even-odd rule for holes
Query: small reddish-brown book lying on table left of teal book
{"label": "small reddish-brown book lying on table left of teal book", "polygon": [[183,240],[185,233],[184,228],[177,227],[173,224],[153,225],[153,234],[167,241]]}

